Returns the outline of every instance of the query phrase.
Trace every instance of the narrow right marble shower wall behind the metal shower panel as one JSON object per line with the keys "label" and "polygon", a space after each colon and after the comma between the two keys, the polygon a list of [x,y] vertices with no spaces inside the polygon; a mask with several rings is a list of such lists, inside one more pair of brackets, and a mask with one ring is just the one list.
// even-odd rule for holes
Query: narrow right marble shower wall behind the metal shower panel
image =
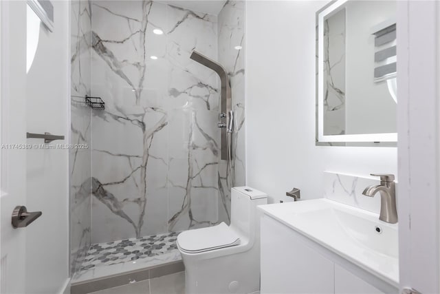
{"label": "narrow right marble shower wall behind the metal shower panel", "polygon": [[[227,180],[228,162],[219,164],[219,220],[230,222],[231,187],[245,185],[245,1],[226,1],[219,13],[219,63],[225,67],[232,90],[234,182]],[[241,49],[240,49],[241,48]]]}

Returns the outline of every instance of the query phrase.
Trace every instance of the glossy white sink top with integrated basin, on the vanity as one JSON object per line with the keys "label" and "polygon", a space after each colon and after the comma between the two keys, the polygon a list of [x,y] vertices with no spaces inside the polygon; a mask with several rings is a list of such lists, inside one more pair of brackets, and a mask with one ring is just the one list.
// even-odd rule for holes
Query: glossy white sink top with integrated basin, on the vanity
{"label": "glossy white sink top with integrated basin, on the vanity", "polygon": [[259,208],[362,269],[399,286],[397,224],[382,222],[376,213],[324,198]]}

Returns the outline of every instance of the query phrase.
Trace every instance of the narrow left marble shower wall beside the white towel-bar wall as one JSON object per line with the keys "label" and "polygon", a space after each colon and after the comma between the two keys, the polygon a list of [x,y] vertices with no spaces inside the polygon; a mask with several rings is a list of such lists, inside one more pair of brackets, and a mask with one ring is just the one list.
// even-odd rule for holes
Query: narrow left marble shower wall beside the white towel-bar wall
{"label": "narrow left marble shower wall beside the white towel-bar wall", "polygon": [[91,111],[84,96],[91,94],[91,6],[71,2],[71,144],[70,149],[70,247],[71,272],[80,268],[91,244]]}

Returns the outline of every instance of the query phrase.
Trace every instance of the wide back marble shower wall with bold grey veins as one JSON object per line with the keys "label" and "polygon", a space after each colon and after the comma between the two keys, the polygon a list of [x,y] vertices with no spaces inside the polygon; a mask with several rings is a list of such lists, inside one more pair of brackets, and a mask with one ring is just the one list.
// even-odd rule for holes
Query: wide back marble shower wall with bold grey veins
{"label": "wide back marble shower wall with bold grey veins", "polygon": [[[220,203],[228,219],[219,78],[189,58],[196,49],[218,59],[217,17],[157,1],[92,1],[91,10],[92,93],[106,103],[92,114],[92,242],[217,224]],[[242,64],[235,53],[222,62]]]}

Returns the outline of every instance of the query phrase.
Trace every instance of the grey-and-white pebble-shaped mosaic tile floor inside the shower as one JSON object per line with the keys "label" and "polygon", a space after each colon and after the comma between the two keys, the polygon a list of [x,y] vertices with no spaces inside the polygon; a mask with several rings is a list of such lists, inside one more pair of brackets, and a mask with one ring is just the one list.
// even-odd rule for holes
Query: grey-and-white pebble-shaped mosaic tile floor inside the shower
{"label": "grey-and-white pebble-shaped mosaic tile floor inside the shower", "polygon": [[179,232],[92,244],[80,271],[177,252]]}

